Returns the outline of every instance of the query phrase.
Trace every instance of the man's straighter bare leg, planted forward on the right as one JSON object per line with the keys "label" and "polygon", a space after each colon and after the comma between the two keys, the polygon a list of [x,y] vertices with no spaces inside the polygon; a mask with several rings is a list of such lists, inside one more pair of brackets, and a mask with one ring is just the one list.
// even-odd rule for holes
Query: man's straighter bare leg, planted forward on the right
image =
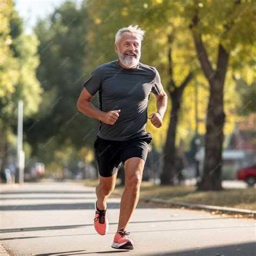
{"label": "man's straighter bare leg, planted forward on the right", "polygon": [[120,204],[118,230],[126,228],[139,200],[139,189],[145,161],[132,157],[125,161],[125,190]]}

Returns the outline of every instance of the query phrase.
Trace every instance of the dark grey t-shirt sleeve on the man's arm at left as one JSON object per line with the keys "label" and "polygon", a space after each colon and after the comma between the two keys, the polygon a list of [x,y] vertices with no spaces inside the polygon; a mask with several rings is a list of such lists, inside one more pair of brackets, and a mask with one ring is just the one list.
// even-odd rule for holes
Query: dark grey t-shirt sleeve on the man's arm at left
{"label": "dark grey t-shirt sleeve on the man's arm at left", "polygon": [[92,71],[91,77],[83,84],[90,95],[95,95],[95,93],[100,89],[102,86],[102,78],[103,68],[98,66],[98,68]]}

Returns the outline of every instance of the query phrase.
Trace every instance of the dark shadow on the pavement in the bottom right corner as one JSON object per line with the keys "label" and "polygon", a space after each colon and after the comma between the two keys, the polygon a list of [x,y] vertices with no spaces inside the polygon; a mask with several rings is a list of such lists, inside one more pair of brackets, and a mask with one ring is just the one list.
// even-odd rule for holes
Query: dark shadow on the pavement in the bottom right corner
{"label": "dark shadow on the pavement in the bottom right corner", "polygon": [[[147,254],[156,255],[156,254]],[[225,246],[213,246],[207,248],[198,248],[197,250],[179,251],[179,252],[166,252],[158,255],[175,255],[175,256],[191,256],[191,255],[219,255],[219,256],[245,256],[256,255],[255,243],[248,242],[246,244],[233,244]]]}

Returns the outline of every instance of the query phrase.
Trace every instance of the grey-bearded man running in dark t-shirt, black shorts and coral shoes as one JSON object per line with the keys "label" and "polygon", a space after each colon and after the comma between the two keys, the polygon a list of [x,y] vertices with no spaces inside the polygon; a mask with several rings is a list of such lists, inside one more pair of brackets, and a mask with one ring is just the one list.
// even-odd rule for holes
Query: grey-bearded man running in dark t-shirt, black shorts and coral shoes
{"label": "grey-bearded man running in dark t-shirt, black shorts and coral shoes", "polygon": [[[132,250],[133,241],[126,227],[139,200],[139,188],[148,146],[152,136],[146,132],[147,105],[150,92],[157,99],[157,112],[148,117],[159,128],[167,107],[167,95],[156,68],[139,62],[145,31],[130,25],[116,33],[114,50],[119,59],[98,66],[84,83],[78,110],[100,121],[94,143],[99,171],[96,187],[94,226],[104,235],[109,228],[106,199],[116,185],[117,172],[123,163],[125,189],[120,202],[117,233],[113,248]],[[91,99],[99,92],[99,109]]]}

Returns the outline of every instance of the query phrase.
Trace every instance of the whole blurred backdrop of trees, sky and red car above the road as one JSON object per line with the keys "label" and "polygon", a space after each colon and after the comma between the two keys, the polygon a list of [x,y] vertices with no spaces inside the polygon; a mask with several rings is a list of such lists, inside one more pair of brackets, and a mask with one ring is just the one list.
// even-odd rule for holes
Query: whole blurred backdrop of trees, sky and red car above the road
{"label": "whole blurred backdrop of trees, sky and red car above the road", "polygon": [[[146,30],[140,62],[157,68],[169,96],[163,126],[146,126],[153,140],[143,179],[203,190],[219,190],[223,180],[253,185],[255,5],[1,0],[1,182],[98,178],[99,121],[80,113],[77,99],[93,69],[118,59],[117,30],[133,24]],[[98,93],[92,103],[98,106]],[[124,172],[118,175],[124,182]]]}

